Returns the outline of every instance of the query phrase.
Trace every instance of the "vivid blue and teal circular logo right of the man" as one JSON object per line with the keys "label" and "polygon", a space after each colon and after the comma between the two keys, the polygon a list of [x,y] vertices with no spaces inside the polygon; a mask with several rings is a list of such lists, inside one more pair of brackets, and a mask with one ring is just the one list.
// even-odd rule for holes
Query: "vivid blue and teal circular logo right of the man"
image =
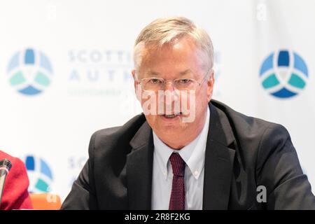
{"label": "vivid blue and teal circular logo right of the man", "polygon": [[279,98],[289,98],[300,93],[308,76],[307,65],[302,57],[290,50],[273,52],[260,67],[262,87]]}

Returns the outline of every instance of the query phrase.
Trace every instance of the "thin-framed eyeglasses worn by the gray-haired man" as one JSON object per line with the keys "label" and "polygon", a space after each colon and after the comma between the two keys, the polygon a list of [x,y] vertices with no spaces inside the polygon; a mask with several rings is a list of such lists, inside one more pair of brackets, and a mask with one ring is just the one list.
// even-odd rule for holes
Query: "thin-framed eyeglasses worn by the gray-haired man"
{"label": "thin-framed eyeglasses worn by the gray-haired man", "polygon": [[198,83],[197,80],[193,78],[176,78],[174,80],[165,80],[164,78],[142,78],[139,81],[139,84],[144,91],[158,91],[164,90],[165,85],[169,82],[172,82],[175,90],[196,90],[197,87],[200,87],[204,80],[208,77],[209,71],[207,74],[202,78],[201,82]]}

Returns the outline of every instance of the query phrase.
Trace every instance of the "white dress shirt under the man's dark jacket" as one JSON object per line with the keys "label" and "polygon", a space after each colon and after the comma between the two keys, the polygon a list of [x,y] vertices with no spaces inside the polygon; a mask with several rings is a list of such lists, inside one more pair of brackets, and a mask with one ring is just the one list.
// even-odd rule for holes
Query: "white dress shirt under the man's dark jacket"
{"label": "white dress shirt under the man's dark jacket", "polygon": [[204,190],[204,155],[206,152],[207,136],[209,131],[210,111],[207,109],[207,118],[200,134],[190,144],[174,150],[153,132],[153,179],[152,179],[152,204],[153,210],[169,209],[169,199],[172,192],[173,172],[169,157],[178,152],[186,162],[185,190],[186,209],[202,209],[202,196]]}

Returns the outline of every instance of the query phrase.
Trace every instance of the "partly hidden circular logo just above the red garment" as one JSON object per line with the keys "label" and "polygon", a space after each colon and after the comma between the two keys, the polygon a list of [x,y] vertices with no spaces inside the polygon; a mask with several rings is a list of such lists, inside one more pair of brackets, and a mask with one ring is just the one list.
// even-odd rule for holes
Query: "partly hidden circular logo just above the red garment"
{"label": "partly hidden circular logo just above the red garment", "polygon": [[48,164],[41,158],[28,155],[25,159],[29,176],[29,192],[47,193],[51,191],[52,172]]}

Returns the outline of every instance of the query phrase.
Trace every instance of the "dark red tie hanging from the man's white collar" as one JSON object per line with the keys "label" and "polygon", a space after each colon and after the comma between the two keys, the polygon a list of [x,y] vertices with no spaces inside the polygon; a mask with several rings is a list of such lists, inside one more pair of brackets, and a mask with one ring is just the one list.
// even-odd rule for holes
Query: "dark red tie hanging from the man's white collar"
{"label": "dark red tie hanging from the man's white collar", "polygon": [[179,153],[172,153],[169,158],[173,169],[173,183],[169,210],[185,210],[185,162]]}

